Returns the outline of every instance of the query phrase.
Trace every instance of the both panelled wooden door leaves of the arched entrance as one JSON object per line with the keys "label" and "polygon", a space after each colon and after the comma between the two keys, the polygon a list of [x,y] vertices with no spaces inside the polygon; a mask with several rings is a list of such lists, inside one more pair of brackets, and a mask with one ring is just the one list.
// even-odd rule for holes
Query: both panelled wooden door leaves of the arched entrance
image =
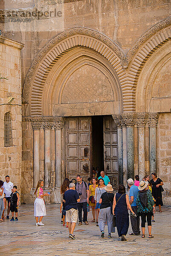
{"label": "both panelled wooden door leaves of the arched entrance", "polygon": [[[80,174],[85,181],[92,177],[93,157],[100,154],[106,175],[110,183],[117,189],[119,183],[117,157],[117,129],[112,116],[101,116],[102,126],[94,130],[92,116],[67,117],[66,119],[66,172],[72,180]],[[93,131],[93,132],[92,132]],[[101,140],[94,140],[96,133],[102,132]],[[96,143],[96,145],[94,144]],[[96,167],[96,166],[95,166]]]}

